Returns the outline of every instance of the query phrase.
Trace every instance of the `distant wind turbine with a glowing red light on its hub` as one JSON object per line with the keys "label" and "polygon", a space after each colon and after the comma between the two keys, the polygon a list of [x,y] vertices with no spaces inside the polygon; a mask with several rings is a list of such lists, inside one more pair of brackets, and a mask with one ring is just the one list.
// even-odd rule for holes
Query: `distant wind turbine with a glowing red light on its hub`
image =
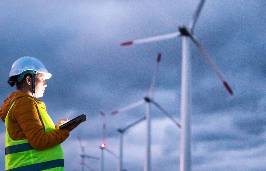
{"label": "distant wind turbine with a glowing red light on its hub", "polygon": [[[105,116],[104,112],[100,112],[100,114],[102,116]],[[101,151],[101,169],[100,171],[104,171],[104,150],[107,151],[108,153],[110,153],[112,156],[114,156],[116,159],[118,159],[118,156],[112,152],[111,150],[109,150],[108,148],[106,148],[106,144],[105,144],[105,137],[106,137],[106,124],[103,124],[103,131],[102,131],[102,144],[100,145],[100,149]]]}

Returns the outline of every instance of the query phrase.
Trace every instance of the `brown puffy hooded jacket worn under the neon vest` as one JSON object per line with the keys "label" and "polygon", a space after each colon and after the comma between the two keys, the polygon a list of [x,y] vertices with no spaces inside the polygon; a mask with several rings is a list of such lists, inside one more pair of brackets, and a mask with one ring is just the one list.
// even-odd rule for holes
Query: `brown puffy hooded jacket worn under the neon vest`
{"label": "brown puffy hooded jacket worn under the neon vest", "polygon": [[[11,108],[8,115],[7,131],[12,140],[27,139],[32,148],[36,150],[46,150],[58,144],[61,144],[69,136],[69,130],[66,128],[58,129],[50,132],[45,132],[42,118],[39,114],[37,103],[41,101],[25,96],[28,94],[22,91],[16,91],[4,100],[0,109],[2,121],[5,122],[7,112],[12,103],[18,99]],[[45,109],[45,106],[43,106]],[[46,109],[45,109],[46,110]]]}

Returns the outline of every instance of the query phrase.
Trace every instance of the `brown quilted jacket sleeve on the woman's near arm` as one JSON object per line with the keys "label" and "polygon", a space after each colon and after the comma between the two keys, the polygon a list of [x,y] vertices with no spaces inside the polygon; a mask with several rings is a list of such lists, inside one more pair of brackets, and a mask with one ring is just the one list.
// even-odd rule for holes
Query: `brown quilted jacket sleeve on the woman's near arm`
{"label": "brown quilted jacket sleeve on the woman's near arm", "polygon": [[66,128],[45,132],[37,105],[32,99],[20,98],[16,104],[15,119],[32,148],[46,150],[61,144],[69,136],[69,130]]}

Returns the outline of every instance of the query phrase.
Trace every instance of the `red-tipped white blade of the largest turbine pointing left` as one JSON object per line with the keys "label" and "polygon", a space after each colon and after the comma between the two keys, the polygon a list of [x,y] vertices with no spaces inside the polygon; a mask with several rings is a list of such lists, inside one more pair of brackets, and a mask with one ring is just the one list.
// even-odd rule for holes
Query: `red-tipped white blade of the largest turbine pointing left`
{"label": "red-tipped white blade of the largest turbine pointing left", "polygon": [[156,41],[160,41],[160,40],[167,40],[167,39],[172,39],[172,38],[178,37],[179,35],[180,35],[179,32],[174,32],[174,33],[170,33],[170,34],[162,34],[159,36],[153,36],[153,37],[147,37],[144,39],[137,39],[134,41],[123,42],[123,43],[121,43],[121,46],[142,44],[142,43],[148,43],[148,42],[156,42]]}

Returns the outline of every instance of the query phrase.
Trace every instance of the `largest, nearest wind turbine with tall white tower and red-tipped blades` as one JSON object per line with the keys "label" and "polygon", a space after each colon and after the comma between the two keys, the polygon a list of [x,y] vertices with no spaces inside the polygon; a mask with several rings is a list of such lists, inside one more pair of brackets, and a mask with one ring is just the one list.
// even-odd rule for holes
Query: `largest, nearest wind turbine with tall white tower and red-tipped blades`
{"label": "largest, nearest wind turbine with tall white tower and red-tipped blades", "polygon": [[[207,51],[202,47],[202,45],[193,37],[194,34],[194,27],[197,22],[197,19],[200,15],[202,10],[203,4],[205,0],[201,0],[197,6],[197,9],[194,13],[194,16],[189,23],[189,27],[186,26],[179,26],[179,31],[171,33],[171,34],[164,34],[154,37],[148,37],[144,39],[137,39],[134,41],[124,42],[121,43],[121,46],[125,45],[134,45],[134,44],[142,44],[148,42],[155,42],[159,40],[166,40],[172,39],[176,37],[182,37],[182,75],[181,75],[181,156],[180,156],[180,170],[181,171],[190,171],[190,113],[191,113],[191,72],[190,72],[190,56],[189,56],[189,46],[188,41],[189,39],[194,42],[196,47],[200,50],[204,58],[207,60],[208,64],[210,65],[211,69],[213,69],[214,73],[218,76],[221,80],[229,94],[233,94],[232,89],[229,87],[227,81],[222,76],[221,72],[219,71],[218,67],[214,64],[212,59],[210,58]],[[150,168],[144,169],[145,171],[150,171]]]}

